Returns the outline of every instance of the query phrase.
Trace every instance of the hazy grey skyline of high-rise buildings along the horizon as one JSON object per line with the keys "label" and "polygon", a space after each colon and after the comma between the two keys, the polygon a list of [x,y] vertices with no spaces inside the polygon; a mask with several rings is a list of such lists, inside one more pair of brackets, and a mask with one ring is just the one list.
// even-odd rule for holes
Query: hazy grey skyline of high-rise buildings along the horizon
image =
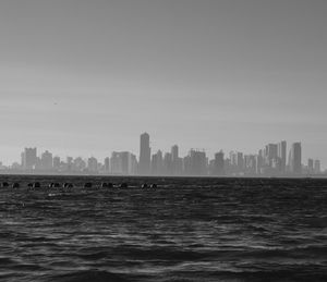
{"label": "hazy grey skyline of high-rise buildings along the horizon", "polygon": [[138,160],[129,151],[113,151],[102,162],[90,157],[66,157],[64,160],[48,150],[40,156],[36,148],[25,148],[21,163],[13,163],[1,171],[13,173],[76,173],[108,175],[168,175],[168,176],[291,176],[322,174],[319,160],[308,159],[302,163],[301,143],[293,143],[287,150],[287,142],[268,144],[255,155],[231,151],[228,157],[222,150],[214,159],[205,150],[191,149],[180,157],[174,145],[169,152],[156,151],[152,155],[149,135],[140,139]]}

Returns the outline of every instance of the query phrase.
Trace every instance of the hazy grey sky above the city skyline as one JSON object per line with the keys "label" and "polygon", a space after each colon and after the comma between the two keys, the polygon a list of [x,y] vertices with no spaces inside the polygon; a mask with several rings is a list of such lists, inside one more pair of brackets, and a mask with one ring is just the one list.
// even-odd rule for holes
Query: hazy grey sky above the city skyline
{"label": "hazy grey sky above the city skyline", "polygon": [[1,0],[0,161],[302,142],[327,168],[326,0]]}

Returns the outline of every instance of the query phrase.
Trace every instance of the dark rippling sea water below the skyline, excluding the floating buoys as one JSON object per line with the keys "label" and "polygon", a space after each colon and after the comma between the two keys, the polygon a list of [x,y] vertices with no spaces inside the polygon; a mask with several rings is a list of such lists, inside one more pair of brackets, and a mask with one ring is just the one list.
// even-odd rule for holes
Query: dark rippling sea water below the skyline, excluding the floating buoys
{"label": "dark rippling sea water below the skyline, excluding the floating buoys", "polygon": [[1,281],[327,281],[327,180],[0,182]]}

